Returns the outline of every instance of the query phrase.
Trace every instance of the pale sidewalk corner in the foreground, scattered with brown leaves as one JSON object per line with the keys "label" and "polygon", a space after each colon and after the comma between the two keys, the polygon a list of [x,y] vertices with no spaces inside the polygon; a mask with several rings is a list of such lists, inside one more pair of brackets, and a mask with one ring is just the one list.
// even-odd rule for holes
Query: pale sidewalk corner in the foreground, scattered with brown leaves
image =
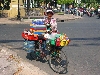
{"label": "pale sidewalk corner in the foreground, scattered with brown leaves", "polygon": [[49,75],[21,59],[16,52],[0,46],[0,75]]}

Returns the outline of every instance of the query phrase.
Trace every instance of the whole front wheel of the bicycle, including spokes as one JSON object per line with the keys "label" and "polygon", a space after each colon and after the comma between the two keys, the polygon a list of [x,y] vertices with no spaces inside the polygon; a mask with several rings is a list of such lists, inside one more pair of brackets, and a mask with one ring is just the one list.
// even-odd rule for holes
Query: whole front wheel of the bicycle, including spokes
{"label": "whole front wheel of the bicycle, including spokes", "polygon": [[67,72],[67,56],[63,51],[60,51],[59,56],[49,58],[49,66],[56,73],[66,73]]}

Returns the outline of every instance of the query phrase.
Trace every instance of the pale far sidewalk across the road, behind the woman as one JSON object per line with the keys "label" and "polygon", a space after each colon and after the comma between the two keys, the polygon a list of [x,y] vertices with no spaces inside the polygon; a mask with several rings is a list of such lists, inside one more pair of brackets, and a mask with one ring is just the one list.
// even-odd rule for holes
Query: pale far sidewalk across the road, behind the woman
{"label": "pale far sidewalk across the road, behind the woman", "polygon": [[[68,20],[82,19],[82,17],[74,16],[72,14],[66,14],[66,15],[55,14],[53,17],[57,19],[57,22],[61,22],[61,20],[68,21]],[[8,18],[0,18],[0,24],[30,24],[32,20],[33,19],[23,19],[22,21],[17,21],[17,20],[9,20]]]}

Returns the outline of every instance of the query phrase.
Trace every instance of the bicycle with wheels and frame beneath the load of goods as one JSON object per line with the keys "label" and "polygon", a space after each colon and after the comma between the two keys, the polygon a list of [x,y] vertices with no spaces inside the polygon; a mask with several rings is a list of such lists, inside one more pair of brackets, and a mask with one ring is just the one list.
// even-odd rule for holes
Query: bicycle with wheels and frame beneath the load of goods
{"label": "bicycle with wheels and frame beneath the load of goods", "polygon": [[[35,51],[30,53],[30,56],[35,59],[43,59],[46,60],[50,66],[50,68],[56,72],[56,73],[64,73],[67,72],[67,66],[68,66],[68,61],[67,61],[67,56],[66,54],[62,51],[63,47],[56,47],[53,45],[50,45],[49,43],[46,44],[46,51],[49,52],[46,53],[45,51],[43,52],[43,43],[40,41],[35,42]],[[44,43],[45,45],[45,43]],[[49,55],[49,58],[47,57]],[[61,56],[63,55],[63,56]]]}

